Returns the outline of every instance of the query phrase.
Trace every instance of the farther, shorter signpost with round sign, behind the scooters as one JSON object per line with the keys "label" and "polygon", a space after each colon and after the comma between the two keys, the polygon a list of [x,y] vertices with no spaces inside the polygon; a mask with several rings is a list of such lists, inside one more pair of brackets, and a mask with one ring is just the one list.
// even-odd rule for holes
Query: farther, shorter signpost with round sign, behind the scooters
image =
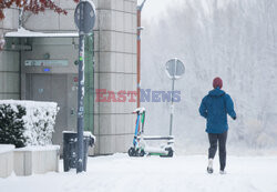
{"label": "farther, shorter signpost with round sign, behind the scooters", "polygon": [[175,85],[175,80],[181,79],[181,77],[185,73],[185,65],[181,60],[176,58],[171,59],[165,63],[165,72],[172,80],[172,101],[171,101],[171,122],[170,122],[170,135],[172,135],[173,113],[174,113],[174,100],[173,100],[174,85]]}

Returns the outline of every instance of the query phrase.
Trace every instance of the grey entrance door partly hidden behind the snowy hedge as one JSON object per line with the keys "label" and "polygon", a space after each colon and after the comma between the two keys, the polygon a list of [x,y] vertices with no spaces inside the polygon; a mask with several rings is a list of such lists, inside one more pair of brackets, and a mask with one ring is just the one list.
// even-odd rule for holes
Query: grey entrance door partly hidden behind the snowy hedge
{"label": "grey entrance door partly hidden behind the snowy hedge", "polygon": [[[35,74],[25,75],[25,99],[33,101],[57,102],[60,111],[57,115],[53,144],[62,145],[62,131],[68,130],[68,114],[74,114],[72,107],[68,108],[68,74]],[[74,103],[74,102],[71,102]],[[70,111],[70,112],[69,112]]]}

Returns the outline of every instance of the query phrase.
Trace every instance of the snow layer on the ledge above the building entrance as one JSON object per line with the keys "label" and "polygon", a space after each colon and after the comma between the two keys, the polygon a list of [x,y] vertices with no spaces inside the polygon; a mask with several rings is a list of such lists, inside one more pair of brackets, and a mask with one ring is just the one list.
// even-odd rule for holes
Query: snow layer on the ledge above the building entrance
{"label": "snow layer on the ledge above the building entrance", "polygon": [[25,30],[24,28],[19,28],[18,31],[7,32],[6,38],[78,38],[78,32],[72,33],[44,33],[34,32]]}

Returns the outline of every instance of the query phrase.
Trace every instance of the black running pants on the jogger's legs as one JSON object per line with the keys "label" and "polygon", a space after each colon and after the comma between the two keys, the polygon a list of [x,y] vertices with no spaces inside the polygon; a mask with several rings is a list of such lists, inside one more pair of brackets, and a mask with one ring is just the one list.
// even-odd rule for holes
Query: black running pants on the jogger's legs
{"label": "black running pants on the jogger's legs", "polygon": [[217,141],[219,143],[219,162],[220,170],[225,169],[226,165],[226,140],[228,131],[225,131],[220,134],[208,133],[209,149],[208,149],[208,159],[214,159],[217,150]]}

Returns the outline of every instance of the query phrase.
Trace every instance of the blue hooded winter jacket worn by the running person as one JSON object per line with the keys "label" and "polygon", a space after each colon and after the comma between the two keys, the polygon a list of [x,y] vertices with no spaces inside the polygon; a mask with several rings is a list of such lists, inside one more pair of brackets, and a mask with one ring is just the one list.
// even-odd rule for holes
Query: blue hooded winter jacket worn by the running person
{"label": "blue hooded winter jacket worn by the running person", "polygon": [[224,133],[228,130],[227,113],[235,119],[234,103],[230,97],[219,88],[203,98],[199,113],[207,120],[206,132]]}

